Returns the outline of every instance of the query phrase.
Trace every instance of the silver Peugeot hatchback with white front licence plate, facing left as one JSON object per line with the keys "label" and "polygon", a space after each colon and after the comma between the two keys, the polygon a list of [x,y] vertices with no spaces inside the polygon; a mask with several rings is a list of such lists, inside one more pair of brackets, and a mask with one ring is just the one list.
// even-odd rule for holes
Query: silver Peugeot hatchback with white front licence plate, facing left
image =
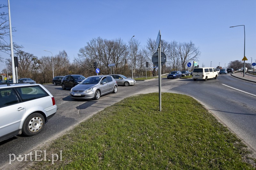
{"label": "silver Peugeot hatchback with white front licence plate, facing left", "polygon": [[110,75],[94,75],[87,77],[70,90],[72,99],[95,99],[108,93],[117,92],[116,80]]}

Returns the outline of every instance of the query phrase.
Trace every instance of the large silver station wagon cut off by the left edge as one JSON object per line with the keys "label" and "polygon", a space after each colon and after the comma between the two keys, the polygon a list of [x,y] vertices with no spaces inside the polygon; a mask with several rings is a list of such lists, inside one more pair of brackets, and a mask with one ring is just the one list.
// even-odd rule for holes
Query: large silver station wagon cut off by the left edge
{"label": "large silver station wagon cut off by the left edge", "polygon": [[54,97],[41,84],[1,84],[0,142],[21,133],[38,134],[56,111]]}

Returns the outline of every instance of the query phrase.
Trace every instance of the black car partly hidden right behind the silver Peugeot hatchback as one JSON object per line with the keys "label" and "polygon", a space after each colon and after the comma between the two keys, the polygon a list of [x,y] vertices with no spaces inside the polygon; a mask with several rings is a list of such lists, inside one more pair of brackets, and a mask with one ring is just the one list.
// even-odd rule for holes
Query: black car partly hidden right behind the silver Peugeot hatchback
{"label": "black car partly hidden right behind the silver Peugeot hatchback", "polygon": [[79,84],[81,81],[85,79],[84,76],[74,74],[74,75],[66,75],[61,80],[61,88],[65,90],[66,88],[72,88],[75,87],[77,84]]}

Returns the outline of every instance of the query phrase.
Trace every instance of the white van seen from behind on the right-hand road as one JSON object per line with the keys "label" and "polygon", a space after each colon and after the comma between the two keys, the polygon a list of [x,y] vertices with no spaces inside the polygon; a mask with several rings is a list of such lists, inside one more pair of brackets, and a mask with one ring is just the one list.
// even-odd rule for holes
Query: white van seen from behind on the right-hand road
{"label": "white van seen from behind on the right-hand road", "polygon": [[217,79],[217,77],[218,72],[212,67],[194,68],[193,70],[194,81],[196,81],[196,79],[204,79],[204,81],[206,81],[211,78]]}

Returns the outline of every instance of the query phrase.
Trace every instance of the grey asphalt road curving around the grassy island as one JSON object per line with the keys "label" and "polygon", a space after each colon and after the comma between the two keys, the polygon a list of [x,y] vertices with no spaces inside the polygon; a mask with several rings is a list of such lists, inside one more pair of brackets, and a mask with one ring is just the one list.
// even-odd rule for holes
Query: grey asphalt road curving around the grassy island
{"label": "grey asphalt road curving around the grassy island", "polygon": [[[1,142],[0,166],[9,163],[9,154],[26,154],[39,150],[42,145],[57,138],[79,122],[126,97],[158,92],[158,79],[137,81],[135,86],[118,86],[116,94],[108,94],[100,97],[99,100],[87,101],[71,99],[69,89],[62,90],[60,86],[53,85],[45,85],[45,87],[55,98],[58,106],[57,113],[45,124],[44,130],[38,135],[17,136]],[[254,127],[256,83],[236,79],[230,74],[221,74],[217,80],[208,79],[207,81],[166,78],[162,79],[161,88],[162,92],[186,94],[196,98],[244,142],[256,150],[256,129]],[[11,166],[8,165],[8,168]]]}

